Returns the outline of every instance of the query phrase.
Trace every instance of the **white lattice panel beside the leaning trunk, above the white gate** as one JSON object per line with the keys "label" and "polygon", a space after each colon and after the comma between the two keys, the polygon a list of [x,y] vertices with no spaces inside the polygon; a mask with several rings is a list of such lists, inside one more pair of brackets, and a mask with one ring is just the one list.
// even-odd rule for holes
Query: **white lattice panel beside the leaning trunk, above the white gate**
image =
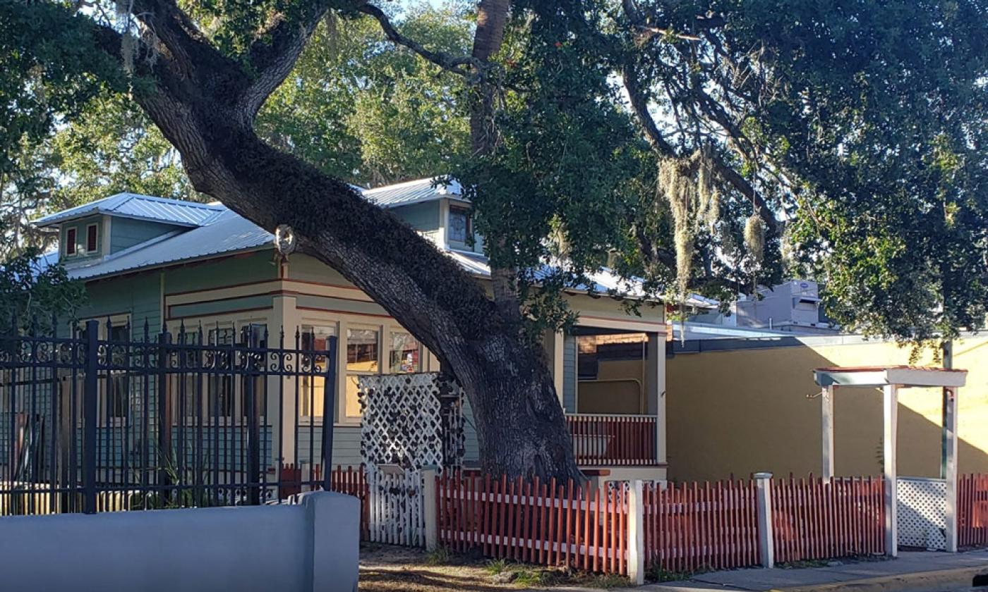
{"label": "white lattice panel beside the leaning trunk, above the white gate", "polygon": [[458,468],[463,458],[462,389],[437,372],[361,376],[361,456],[371,467]]}

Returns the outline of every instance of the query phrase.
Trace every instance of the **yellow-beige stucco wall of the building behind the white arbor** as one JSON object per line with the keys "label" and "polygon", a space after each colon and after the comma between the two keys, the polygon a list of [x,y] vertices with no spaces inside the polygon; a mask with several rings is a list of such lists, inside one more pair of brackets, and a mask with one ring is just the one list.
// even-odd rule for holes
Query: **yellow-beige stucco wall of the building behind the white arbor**
{"label": "yellow-beige stucco wall of the building behind the white arbor", "polygon": [[[716,480],[733,473],[820,472],[820,400],[813,368],[907,364],[910,349],[889,342],[677,354],[668,360],[669,478]],[[920,364],[932,364],[929,352]],[[988,336],[955,342],[955,368],[969,371],[959,395],[962,473],[988,473]],[[838,389],[838,475],[880,472],[881,394]],[[899,474],[937,477],[941,393],[900,392]]]}

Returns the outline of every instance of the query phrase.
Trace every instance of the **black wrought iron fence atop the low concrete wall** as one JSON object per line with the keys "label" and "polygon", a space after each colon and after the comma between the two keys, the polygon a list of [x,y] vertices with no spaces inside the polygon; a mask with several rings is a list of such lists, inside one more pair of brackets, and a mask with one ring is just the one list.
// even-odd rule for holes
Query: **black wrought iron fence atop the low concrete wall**
{"label": "black wrought iron fence atop the low concrete wall", "polygon": [[261,326],[152,334],[110,321],[65,333],[0,335],[0,515],[329,488],[311,468],[329,466],[332,420],[324,431],[313,409],[332,417],[335,337],[272,344]]}

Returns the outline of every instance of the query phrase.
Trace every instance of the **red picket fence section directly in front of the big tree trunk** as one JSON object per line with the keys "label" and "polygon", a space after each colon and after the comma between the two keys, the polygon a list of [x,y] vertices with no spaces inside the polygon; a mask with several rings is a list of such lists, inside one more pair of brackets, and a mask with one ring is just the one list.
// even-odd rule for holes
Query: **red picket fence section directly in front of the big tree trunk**
{"label": "red picket fence section directly in front of the big tree trunk", "polygon": [[627,573],[627,493],[590,483],[437,479],[439,543],[456,552]]}

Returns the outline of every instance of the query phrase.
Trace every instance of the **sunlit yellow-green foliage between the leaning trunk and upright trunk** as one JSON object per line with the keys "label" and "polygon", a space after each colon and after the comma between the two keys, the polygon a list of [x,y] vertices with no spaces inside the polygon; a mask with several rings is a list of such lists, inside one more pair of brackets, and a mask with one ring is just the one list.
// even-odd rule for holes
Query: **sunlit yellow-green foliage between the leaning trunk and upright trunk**
{"label": "sunlit yellow-green foliage between the leaning trunk and upright trunk", "polygon": [[[454,6],[407,7],[400,25],[422,42],[467,52]],[[259,133],[327,175],[363,186],[449,171],[467,145],[464,85],[368,18],[334,16],[316,29],[288,81],[261,111]]]}

